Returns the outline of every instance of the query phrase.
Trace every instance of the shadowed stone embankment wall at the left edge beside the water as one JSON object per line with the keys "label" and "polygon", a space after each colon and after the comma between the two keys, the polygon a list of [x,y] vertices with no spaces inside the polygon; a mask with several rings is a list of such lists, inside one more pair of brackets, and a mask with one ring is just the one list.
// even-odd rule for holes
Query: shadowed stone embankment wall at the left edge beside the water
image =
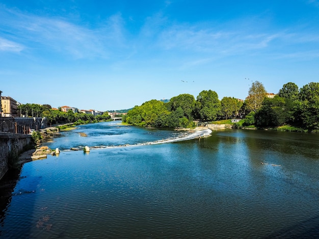
{"label": "shadowed stone embankment wall at the left edge beside the water", "polygon": [[30,143],[31,135],[0,132],[0,180],[9,169],[9,156],[19,155]]}

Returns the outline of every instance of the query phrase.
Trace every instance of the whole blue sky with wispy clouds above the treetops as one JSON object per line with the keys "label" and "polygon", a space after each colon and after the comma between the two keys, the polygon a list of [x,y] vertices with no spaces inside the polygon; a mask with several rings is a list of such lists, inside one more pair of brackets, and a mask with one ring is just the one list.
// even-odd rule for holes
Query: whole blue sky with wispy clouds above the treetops
{"label": "whole blue sky with wispy clouds above the treetops", "polygon": [[116,110],[318,79],[318,0],[0,1],[0,90],[23,104]]}

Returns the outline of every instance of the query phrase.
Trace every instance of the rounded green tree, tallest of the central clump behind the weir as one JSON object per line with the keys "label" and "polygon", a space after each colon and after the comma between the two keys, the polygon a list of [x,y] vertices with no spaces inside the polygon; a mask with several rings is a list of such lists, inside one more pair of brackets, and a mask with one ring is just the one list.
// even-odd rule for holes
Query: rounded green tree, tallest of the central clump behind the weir
{"label": "rounded green tree, tallest of the central clump behind the weir", "polygon": [[215,121],[221,110],[221,102],[215,91],[202,91],[197,96],[196,114],[201,121]]}

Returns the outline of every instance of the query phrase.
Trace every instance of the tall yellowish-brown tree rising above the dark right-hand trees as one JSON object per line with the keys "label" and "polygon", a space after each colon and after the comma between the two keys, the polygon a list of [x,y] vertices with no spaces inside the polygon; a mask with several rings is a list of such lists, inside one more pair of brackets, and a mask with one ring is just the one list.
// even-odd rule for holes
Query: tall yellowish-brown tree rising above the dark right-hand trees
{"label": "tall yellowish-brown tree rising above the dark right-hand trees", "polygon": [[246,98],[246,106],[249,111],[257,112],[260,109],[262,101],[266,97],[266,91],[263,84],[259,81],[252,83]]}

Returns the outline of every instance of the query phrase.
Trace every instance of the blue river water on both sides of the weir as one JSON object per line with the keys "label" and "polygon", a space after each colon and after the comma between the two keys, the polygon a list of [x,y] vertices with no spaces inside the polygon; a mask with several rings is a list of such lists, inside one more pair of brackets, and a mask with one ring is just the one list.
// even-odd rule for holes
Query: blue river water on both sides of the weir
{"label": "blue river water on both sides of the weir", "polygon": [[[184,134],[115,122],[63,132],[46,143],[58,157],[9,177],[0,237],[319,236],[319,135],[225,130],[165,140]],[[116,147],[125,144],[136,146]],[[85,145],[99,148],[68,151]]]}

